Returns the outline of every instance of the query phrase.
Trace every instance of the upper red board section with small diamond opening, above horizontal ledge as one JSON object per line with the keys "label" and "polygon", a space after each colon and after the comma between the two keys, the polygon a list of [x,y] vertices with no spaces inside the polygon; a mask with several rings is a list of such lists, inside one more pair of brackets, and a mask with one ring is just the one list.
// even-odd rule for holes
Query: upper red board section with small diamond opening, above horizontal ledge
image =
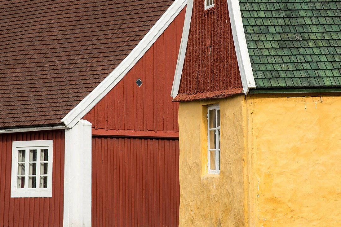
{"label": "upper red board section with small diamond opening, above horizontal ledge", "polygon": [[[95,129],[178,132],[172,91],[185,9],[133,68],[83,119]],[[140,78],[143,84],[136,85]]]}

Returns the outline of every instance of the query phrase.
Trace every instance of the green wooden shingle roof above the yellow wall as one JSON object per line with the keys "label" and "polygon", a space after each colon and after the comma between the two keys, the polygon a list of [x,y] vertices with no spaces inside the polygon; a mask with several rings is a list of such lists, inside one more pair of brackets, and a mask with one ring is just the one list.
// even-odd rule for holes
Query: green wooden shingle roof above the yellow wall
{"label": "green wooden shingle roof above the yellow wall", "polygon": [[256,88],[341,87],[341,0],[239,0]]}

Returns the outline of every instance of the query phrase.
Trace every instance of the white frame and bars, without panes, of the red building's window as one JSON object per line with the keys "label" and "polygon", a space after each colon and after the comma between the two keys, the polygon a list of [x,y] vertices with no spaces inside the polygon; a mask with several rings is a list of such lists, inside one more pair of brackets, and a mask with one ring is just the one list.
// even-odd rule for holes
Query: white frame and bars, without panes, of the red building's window
{"label": "white frame and bars, without panes, of the red building's window", "polygon": [[[17,188],[18,173],[18,150],[25,152],[25,187]],[[28,188],[29,175],[29,150],[37,150],[36,158],[36,186],[37,188]],[[40,149],[48,149],[47,153],[47,188],[39,188],[40,182]],[[12,143],[12,179],[11,179],[11,198],[29,198],[29,197],[52,197],[52,165],[53,165],[53,140],[28,140],[13,141]],[[38,171],[39,170],[39,171]]]}

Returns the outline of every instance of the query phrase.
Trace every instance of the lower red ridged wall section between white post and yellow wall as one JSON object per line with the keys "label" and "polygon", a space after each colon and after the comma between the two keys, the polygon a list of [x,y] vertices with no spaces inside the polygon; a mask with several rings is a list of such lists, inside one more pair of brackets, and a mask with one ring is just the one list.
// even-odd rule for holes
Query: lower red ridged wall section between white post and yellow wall
{"label": "lower red ridged wall section between white post and yellow wall", "polygon": [[92,226],[178,226],[178,140],[93,137],[92,166]]}

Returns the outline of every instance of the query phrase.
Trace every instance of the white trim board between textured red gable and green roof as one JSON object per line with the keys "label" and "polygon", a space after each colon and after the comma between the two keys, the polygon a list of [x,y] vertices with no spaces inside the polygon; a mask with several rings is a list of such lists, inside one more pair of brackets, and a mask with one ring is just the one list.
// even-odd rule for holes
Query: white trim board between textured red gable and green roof
{"label": "white trim board between textured red gable and green roof", "polygon": [[232,35],[236,49],[241,82],[243,85],[244,93],[247,94],[250,88],[256,88],[256,84],[253,78],[248,47],[246,45],[246,38],[243,22],[241,19],[239,1],[227,0],[227,8],[231,21]]}

